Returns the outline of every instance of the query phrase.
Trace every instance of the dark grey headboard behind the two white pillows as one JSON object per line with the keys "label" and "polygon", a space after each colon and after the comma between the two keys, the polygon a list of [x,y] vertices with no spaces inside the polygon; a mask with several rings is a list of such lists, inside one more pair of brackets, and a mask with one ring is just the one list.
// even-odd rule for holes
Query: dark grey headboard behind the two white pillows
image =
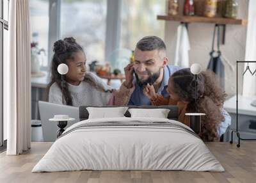
{"label": "dark grey headboard behind the two white pillows", "polygon": [[[79,107],[79,121],[87,120],[89,117],[89,113],[86,109],[86,107],[116,107],[116,106],[80,106]],[[170,120],[178,120],[179,112],[178,112],[178,106],[125,106],[131,108],[140,108],[140,109],[170,109],[170,112],[168,113],[168,119]],[[126,117],[131,117],[131,114],[127,110],[124,114]]]}

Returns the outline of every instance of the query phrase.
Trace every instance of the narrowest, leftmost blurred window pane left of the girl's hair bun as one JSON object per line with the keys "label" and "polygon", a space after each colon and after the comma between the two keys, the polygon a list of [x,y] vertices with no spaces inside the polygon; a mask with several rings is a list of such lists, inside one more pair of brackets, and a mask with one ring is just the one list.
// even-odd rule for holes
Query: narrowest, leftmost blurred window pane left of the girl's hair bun
{"label": "narrowest, leftmost blurred window pane left of the girl's hair bun", "polygon": [[38,55],[42,68],[48,67],[48,38],[49,38],[49,1],[30,1],[31,42],[38,43],[38,50],[44,49]]}

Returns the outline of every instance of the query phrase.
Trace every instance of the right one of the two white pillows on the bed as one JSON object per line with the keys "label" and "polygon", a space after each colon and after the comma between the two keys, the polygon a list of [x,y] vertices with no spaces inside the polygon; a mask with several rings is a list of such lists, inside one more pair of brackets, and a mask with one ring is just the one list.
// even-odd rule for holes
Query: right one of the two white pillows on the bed
{"label": "right one of the two white pillows on the bed", "polygon": [[128,109],[131,118],[150,117],[150,118],[167,118],[170,109]]}

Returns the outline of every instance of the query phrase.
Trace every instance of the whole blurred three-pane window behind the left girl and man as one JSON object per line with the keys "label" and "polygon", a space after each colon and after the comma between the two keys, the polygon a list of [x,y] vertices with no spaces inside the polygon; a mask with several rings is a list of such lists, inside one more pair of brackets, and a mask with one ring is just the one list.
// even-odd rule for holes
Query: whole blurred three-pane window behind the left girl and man
{"label": "whole blurred three-pane window behind the left girl and man", "polygon": [[[106,47],[111,45],[106,42],[106,26],[111,26],[111,22],[106,20],[109,1],[122,1],[120,40],[115,40],[116,35],[112,35],[111,42],[117,41],[121,48],[134,49],[143,36],[164,37],[164,21],[156,17],[165,12],[166,0],[33,0],[30,1],[32,41],[38,41],[38,48],[45,49],[45,54],[42,52],[40,55],[44,70],[51,63],[53,43],[68,36],[73,36],[83,46],[89,63],[93,60],[106,61]],[[51,3],[56,5],[55,13],[49,12]],[[110,13],[118,16],[117,12]],[[49,22],[52,25],[50,31]]]}

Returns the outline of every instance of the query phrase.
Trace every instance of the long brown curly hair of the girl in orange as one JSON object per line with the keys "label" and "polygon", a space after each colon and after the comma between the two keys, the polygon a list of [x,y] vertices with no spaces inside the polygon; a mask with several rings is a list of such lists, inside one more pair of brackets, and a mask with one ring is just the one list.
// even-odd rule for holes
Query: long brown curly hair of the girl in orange
{"label": "long brown curly hair of the girl in orange", "polygon": [[188,102],[186,111],[206,114],[202,120],[200,137],[204,141],[218,140],[218,127],[224,119],[221,108],[226,93],[217,82],[215,74],[207,70],[198,74],[196,80],[190,68],[184,68],[173,73],[171,78],[173,92],[179,96],[180,100]]}

